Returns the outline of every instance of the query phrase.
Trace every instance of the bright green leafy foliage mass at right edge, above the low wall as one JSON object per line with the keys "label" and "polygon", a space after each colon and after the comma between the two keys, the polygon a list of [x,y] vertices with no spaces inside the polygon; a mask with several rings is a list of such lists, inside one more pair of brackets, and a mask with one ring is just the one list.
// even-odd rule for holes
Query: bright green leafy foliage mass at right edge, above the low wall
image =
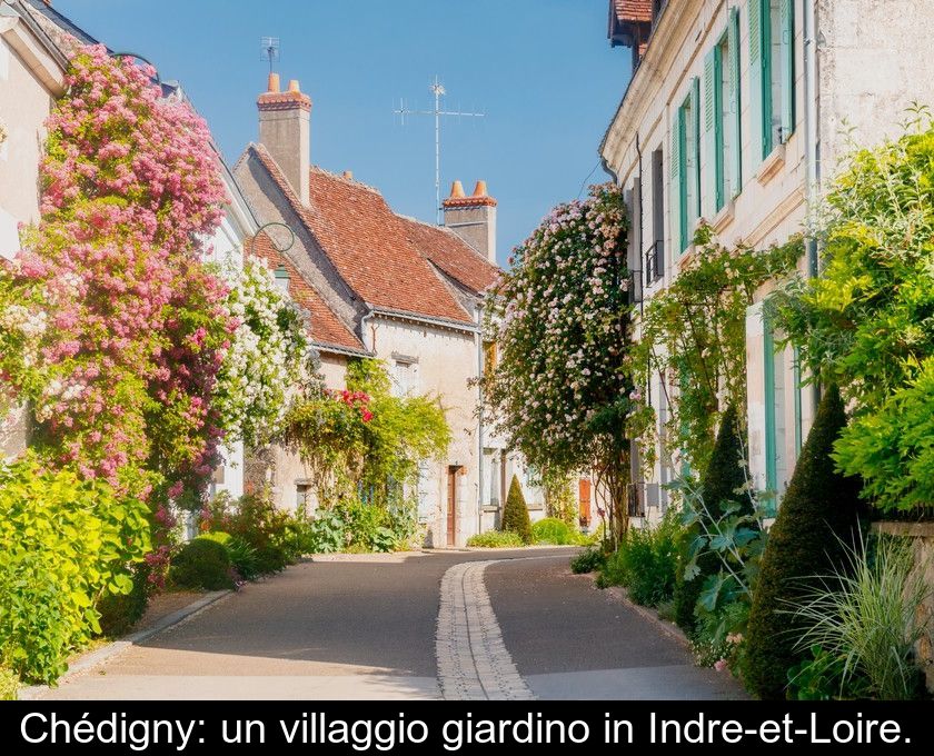
{"label": "bright green leafy foliage mass at right edge, above the low wall", "polygon": [[826,216],[821,275],[782,292],[778,321],[813,379],[837,384],[852,409],[841,469],[858,471],[885,511],[930,505],[934,122],[918,111],[900,139],[854,151]]}

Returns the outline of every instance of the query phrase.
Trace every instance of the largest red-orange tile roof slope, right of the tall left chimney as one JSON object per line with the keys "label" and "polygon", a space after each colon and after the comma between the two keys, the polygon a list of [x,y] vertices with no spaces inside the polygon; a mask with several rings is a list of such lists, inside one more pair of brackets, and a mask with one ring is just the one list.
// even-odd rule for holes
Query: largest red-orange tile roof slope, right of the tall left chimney
{"label": "largest red-orange tile roof slope, right of the tall left chimney", "polygon": [[401,219],[376,189],[311,168],[311,201],[305,206],[266,148],[251,145],[250,149],[340,276],[364,301],[398,312],[473,324],[469,314],[408,240]]}

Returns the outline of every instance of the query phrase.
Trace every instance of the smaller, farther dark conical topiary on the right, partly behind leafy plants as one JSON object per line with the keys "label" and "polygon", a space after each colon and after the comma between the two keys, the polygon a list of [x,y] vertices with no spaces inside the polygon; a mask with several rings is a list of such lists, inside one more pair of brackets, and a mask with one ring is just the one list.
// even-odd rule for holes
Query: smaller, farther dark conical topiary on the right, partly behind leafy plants
{"label": "smaller, farther dark conical topiary on the right, partly behind leafy plants", "polygon": [[[746,483],[742,466],[744,460],[743,430],[736,408],[729,406],[721,418],[717,440],[700,479],[700,495],[712,515],[718,516],[723,513],[725,503],[734,501],[739,504],[741,508],[752,510],[749,497],[736,493],[736,489]],[[704,581],[708,576],[715,575],[721,566],[719,557],[713,551],[706,551],[697,559],[700,571],[692,580],[684,579],[684,564],[687,561],[690,545],[699,533],[700,527],[693,525],[684,533],[680,543],[682,567],[675,581],[675,621],[685,633],[693,633],[697,624],[694,608],[697,606]]]}

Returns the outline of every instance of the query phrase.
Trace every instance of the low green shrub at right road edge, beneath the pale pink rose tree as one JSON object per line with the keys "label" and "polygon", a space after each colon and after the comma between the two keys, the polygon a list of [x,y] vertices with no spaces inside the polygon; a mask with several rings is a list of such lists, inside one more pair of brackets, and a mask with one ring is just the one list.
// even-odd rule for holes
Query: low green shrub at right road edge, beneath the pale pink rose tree
{"label": "low green shrub at right road edge, beneath the pale pink rose tree", "polygon": [[625,586],[629,597],[643,606],[668,600],[675,589],[680,534],[674,509],[655,527],[629,528],[607,558],[600,584]]}

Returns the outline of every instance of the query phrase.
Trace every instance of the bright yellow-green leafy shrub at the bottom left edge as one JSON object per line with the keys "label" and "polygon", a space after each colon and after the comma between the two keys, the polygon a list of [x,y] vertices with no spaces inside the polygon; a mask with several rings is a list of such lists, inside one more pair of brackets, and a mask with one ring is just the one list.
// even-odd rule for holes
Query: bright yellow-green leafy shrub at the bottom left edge
{"label": "bright yellow-green leafy shrub at the bottom left edge", "polygon": [[53,683],[100,631],[95,604],[126,593],[126,566],[149,546],[148,509],[101,480],[57,472],[27,455],[0,465],[0,664]]}

